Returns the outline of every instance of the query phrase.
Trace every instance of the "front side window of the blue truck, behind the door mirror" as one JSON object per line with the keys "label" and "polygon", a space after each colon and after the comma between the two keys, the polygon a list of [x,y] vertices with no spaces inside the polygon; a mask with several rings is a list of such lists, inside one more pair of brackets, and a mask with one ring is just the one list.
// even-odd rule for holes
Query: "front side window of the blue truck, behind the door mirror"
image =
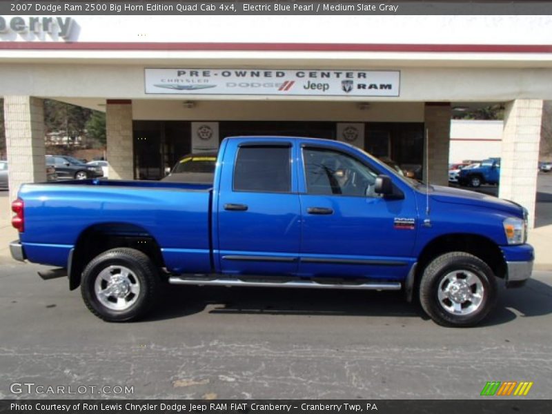
{"label": "front side window of the blue truck, behind the door mirror", "polygon": [[304,148],[303,161],[308,194],[377,197],[377,172],[342,152]]}

